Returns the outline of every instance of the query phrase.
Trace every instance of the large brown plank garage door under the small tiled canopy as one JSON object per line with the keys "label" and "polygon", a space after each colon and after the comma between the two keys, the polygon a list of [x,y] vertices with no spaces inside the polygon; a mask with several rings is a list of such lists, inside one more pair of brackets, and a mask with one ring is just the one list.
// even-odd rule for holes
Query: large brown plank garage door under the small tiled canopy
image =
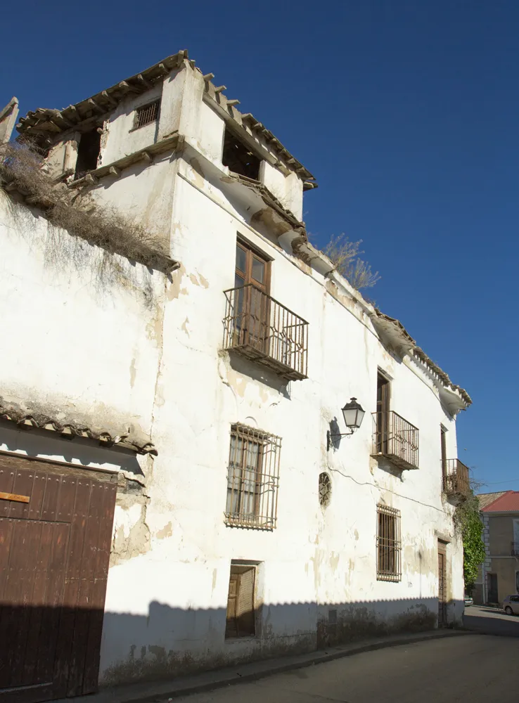
{"label": "large brown plank garage door under the small tiled canopy", "polygon": [[96,690],[116,490],[113,475],[0,455],[1,703]]}

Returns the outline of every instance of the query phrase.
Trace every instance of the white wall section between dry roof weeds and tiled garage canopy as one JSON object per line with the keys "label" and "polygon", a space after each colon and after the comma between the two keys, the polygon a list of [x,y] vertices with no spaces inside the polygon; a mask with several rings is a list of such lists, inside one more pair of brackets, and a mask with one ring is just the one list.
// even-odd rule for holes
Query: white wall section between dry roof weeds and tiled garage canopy
{"label": "white wall section between dry roof weeds and tiled garage canopy", "polygon": [[3,191],[0,239],[1,396],[149,436],[165,276],[70,236]]}

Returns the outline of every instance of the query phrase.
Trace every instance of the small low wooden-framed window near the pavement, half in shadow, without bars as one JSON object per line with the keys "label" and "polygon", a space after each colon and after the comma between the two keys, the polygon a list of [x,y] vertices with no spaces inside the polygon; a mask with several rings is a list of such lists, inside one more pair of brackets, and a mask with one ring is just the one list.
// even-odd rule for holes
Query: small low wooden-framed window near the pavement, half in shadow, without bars
{"label": "small low wooden-framed window near the pavement, half in shadow, without bars", "polygon": [[256,567],[231,563],[227,595],[226,638],[254,637]]}

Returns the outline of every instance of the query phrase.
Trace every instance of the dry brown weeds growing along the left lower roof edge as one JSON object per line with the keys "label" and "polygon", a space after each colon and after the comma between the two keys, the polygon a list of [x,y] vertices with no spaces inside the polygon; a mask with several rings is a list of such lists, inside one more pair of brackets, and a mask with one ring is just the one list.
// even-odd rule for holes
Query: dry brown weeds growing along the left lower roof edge
{"label": "dry brown weeds growing along the left lower roof edge", "polygon": [[27,204],[41,208],[52,224],[91,245],[165,273],[174,268],[159,236],[105,205],[89,202],[87,210],[76,193],[41,169],[41,157],[27,146],[0,147],[0,184],[7,191],[22,193]]}

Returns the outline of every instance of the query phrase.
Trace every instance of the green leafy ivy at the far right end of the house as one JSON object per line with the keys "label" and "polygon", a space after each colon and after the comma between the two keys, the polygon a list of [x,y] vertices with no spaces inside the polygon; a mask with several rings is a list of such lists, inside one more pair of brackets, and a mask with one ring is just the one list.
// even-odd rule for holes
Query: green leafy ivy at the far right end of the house
{"label": "green leafy ivy at the far right end of the house", "polygon": [[472,593],[478,578],[478,567],[485,561],[485,543],[483,542],[483,524],[480,520],[478,498],[470,491],[467,500],[454,511],[454,527],[463,538],[463,576],[466,593]]}

